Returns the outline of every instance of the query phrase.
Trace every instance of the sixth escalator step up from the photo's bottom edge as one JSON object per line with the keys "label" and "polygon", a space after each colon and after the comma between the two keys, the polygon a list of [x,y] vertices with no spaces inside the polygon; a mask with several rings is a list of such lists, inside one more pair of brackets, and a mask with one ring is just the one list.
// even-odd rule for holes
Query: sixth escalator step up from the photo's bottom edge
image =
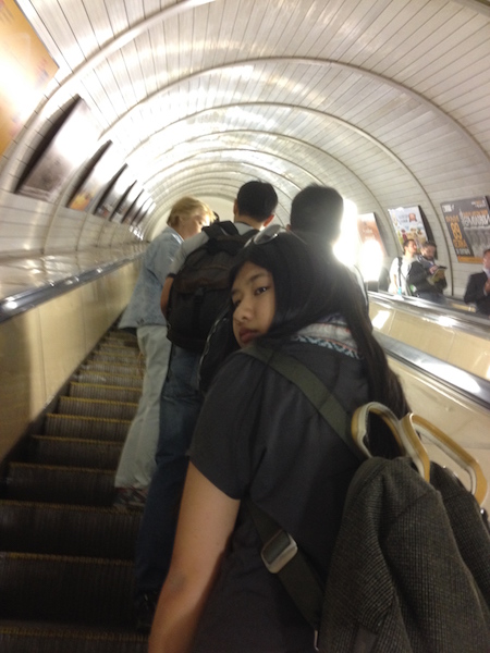
{"label": "sixth escalator step up from the photo's bottom edge", "polygon": [[47,435],[87,438],[89,440],[98,438],[113,442],[123,442],[130,426],[131,420],[73,417],[48,412],[45,420],[45,433]]}

